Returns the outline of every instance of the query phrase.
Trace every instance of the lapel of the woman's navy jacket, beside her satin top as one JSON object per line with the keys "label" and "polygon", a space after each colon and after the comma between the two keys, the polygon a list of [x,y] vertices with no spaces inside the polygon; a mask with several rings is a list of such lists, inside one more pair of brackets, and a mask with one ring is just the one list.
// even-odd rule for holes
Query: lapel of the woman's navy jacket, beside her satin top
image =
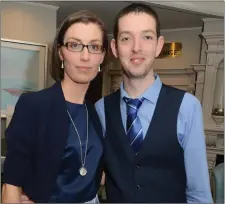
{"label": "lapel of the woman's navy jacket, beside her satin top", "polygon": [[49,97],[52,97],[52,101],[49,107],[49,115],[47,114],[48,125],[45,137],[45,159],[51,164],[51,167],[49,167],[51,171],[49,172],[54,175],[52,178],[55,179],[68,139],[69,118],[66,112],[67,107],[61,83],[54,84],[50,91]]}

